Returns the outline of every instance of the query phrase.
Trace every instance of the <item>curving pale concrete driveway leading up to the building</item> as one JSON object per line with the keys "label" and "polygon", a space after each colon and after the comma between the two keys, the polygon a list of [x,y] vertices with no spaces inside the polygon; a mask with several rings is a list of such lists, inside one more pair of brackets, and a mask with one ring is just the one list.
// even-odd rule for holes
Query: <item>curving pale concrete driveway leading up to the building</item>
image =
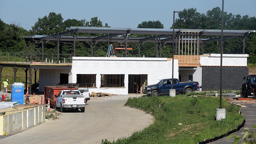
{"label": "curving pale concrete driveway leading up to the building", "polygon": [[153,122],[153,116],[123,106],[126,100],[89,101],[85,113],[69,110],[58,120],[0,139],[0,143],[100,143],[127,137]]}

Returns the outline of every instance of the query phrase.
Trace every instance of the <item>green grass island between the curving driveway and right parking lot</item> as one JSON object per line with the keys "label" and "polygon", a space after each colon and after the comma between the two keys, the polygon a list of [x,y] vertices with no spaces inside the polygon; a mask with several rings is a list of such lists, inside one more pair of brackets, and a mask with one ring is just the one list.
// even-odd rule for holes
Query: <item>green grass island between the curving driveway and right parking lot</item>
{"label": "green grass island between the curving driveway and right parking lot", "polygon": [[216,121],[219,99],[215,97],[178,95],[129,98],[126,106],[151,113],[155,121],[144,130],[134,132],[129,138],[121,138],[112,143],[198,143],[220,136],[237,128],[244,120],[238,106],[226,100],[222,101],[222,105],[226,108],[226,119]]}

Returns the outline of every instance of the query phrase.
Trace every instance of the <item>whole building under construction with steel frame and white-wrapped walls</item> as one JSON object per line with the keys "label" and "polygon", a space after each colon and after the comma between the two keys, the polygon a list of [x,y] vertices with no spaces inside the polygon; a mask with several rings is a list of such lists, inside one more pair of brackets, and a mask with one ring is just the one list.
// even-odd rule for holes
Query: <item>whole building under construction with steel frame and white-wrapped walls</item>
{"label": "whole building under construction with steel frame and white-wrapped walls", "polygon": [[[149,29],[149,28],[106,28],[106,27],[70,27],[68,31],[53,35],[23,36],[26,41],[26,53],[6,54],[1,56],[0,67],[12,67],[14,70],[14,81],[16,71],[23,68],[26,81],[32,86],[32,75],[39,71],[39,91],[43,91],[46,85],[58,83],[92,83],[90,91],[101,92],[107,88],[115,89],[114,94],[142,92],[141,89],[148,84],[157,83],[159,79],[170,78],[170,59],[161,58],[164,45],[172,44],[173,30],[171,29]],[[255,30],[224,30],[223,39],[241,38],[243,54],[223,55],[223,88],[239,89],[242,79],[248,74],[247,54],[245,53],[245,37]],[[98,33],[102,36],[77,36],[78,33]],[[67,36],[72,34],[72,36]],[[132,34],[154,35],[146,38],[130,37]],[[220,54],[204,54],[204,44],[220,40],[221,30],[174,30],[174,78],[180,81],[198,81],[203,90],[218,89]],[[217,36],[217,38],[203,39],[203,36]],[[219,37],[218,37],[219,36]],[[90,57],[76,57],[75,43],[85,41],[90,44]],[[57,54],[45,54],[44,46],[47,42],[57,44]],[[124,57],[93,57],[93,47],[97,42],[123,42],[125,47]],[[127,57],[127,43],[134,43],[138,49],[138,58]],[[143,58],[140,49],[143,43],[155,43],[156,54],[152,58]],[[68,55],[62,55],[61,43],[69,43]],[[28,46],[35,45],[35,53],[28,53]],[[40,45],[41,54],[37,54]],[[9,61],[9,57],[15,57]],[[22,61],[21,61],[22,59]],[[18,61],[19,60],[19,61]],[[68,60],[68,61],[67,61]],[[87,67],[93,61],[93,65]],[[154,61],[154,62],[152,62]],[[112,63],[110,65],[110,63]],[[81,64],[74,67],[74,64]],[[101,71],[99,67],[108,66],[110,69]],[[129,66],[130,64],[130,66]],[[125,69],[123,69],[125,65]],[[167,68],[163,69],[163,67]],[[98,68],[97,68],[98,67]],[[112,68],[112,69],[111,69]],[[83,69],[83,71],[82,71]],[[125,71],[125,72],[124,72]],[[133,73],[133,71],[137,71]],[[29,72],[29,73],[28,73]],[[27,75],[30,80],[27,80]],[[0,75],[1,77],[1,75]],[[27,85],[27,83],[26,83]],[[34,84],[36,85],[36,84]],[[117,90],[119,89],[119,90]],[[120,90],[122,89],[122,90]],[[31,93],[32,88],[29,92]]]}

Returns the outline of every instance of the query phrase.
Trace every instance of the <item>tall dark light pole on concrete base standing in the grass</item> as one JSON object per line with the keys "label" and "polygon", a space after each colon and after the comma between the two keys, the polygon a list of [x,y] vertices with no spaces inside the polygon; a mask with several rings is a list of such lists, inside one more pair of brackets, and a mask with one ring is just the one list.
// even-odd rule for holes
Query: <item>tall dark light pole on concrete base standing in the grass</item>
{"label": "tall dark light pole on concrete base standing in the grass", "polygon": [[223,15],[224,15],[224,0],[222,0],[222,13],[221,13],[221,65],[220,65],[220,78],[219,78],[219,108],[216,109],[216,120],[226,118],[226,109],[222,108],[222,54],[223,54]]}

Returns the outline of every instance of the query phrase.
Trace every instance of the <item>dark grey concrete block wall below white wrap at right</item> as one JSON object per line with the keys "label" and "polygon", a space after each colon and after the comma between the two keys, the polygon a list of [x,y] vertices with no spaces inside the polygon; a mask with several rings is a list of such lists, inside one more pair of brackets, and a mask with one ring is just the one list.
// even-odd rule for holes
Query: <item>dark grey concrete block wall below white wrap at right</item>
{"label": "dark grey concrete block wall below white wrap at right", "polygon": [[[249,73],[248,67],[223,67],[222,88],[240,90]],[[220,83],[220,67],[202,67],[202,90],[218,90]]]}

